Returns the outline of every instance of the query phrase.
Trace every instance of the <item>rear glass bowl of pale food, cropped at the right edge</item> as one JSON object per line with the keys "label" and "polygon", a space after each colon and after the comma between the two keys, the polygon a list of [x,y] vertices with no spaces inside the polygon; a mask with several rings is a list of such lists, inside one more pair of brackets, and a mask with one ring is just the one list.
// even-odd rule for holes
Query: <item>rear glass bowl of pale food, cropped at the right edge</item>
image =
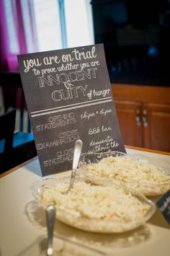
{"label": "rear glass bowl of pale food, cropped at the right edge", "polygon": [[[102,159],[109,157],[118,157],[118,164],[115,167],[115,162],[109,162],[108,165],[103,165]],[[129,165],[127,159],[133,161],[134,166],[138,164],[138,169],[134,169]],[[145,166],[145,171],[141,167]],[[129,165],[129,166],[128,166]],[[102,179],[108,179],[110,182],[128,187],[142,193],[146,196],[155,196],[166,193],[170,189],[170,160],[153,158],[140,154],[125,154],[118,151],[109,151],[103,153],[85,153],[81,154],[79,161],[81,172],[94,172]],[[158,168],[158,169],[157,169]],[[156,169],[158,170],[156,173]],[[153,175],[151,175],[151,170]],[[146,173],[145,173],[146,172]],[[164,176],[164,181],[161,177]]]}

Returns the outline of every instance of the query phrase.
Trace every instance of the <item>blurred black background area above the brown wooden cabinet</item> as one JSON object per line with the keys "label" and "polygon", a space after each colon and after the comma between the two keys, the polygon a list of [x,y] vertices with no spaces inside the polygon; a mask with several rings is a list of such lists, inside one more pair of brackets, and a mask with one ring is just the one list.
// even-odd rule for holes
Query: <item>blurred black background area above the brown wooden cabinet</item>
{"label": "blurred black background area above the brown wooden cabinet", "polygon": [[170,1],[92,0],[111,81],[169,85]]}

